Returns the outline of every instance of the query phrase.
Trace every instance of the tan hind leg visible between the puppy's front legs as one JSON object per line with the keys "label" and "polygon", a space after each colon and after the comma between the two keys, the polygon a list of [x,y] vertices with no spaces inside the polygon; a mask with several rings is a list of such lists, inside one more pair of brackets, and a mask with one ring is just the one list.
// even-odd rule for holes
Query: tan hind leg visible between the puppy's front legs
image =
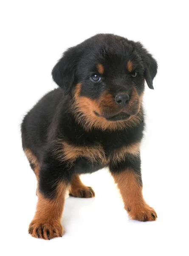
{"label": "tan hind leg visible between the puppy's front legs", "polygon": [[79,197],[79,198],[92,198],[95,196],[95,192],[91,187],[85,186],[80,180],[79,175],[73,175],[71,180],[71,196]]}

